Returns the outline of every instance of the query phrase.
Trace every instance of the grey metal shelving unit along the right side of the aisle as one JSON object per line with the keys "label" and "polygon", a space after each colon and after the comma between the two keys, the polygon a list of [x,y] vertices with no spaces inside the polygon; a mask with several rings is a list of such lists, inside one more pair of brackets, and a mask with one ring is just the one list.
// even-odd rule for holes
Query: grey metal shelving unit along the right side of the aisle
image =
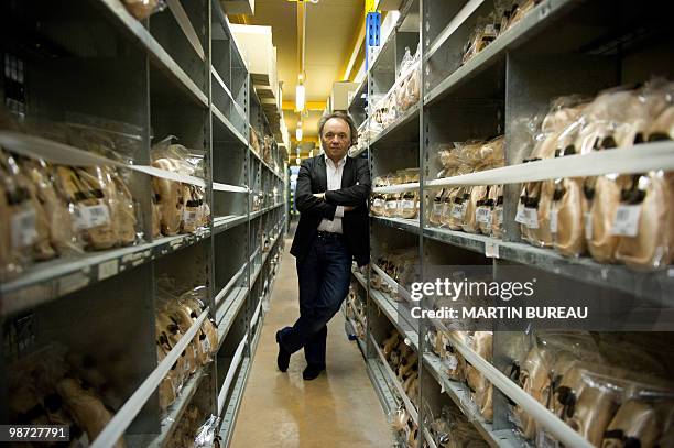
{"label": "grey metal shelving unit along the right side of the aisle", "polygon": [[[607,14],[609,8],[612,12]],[[664,11],[629,1],[543,0],[480,53],[461,63],[464,45],[476,24],[493,10],[493,1],[488,0],[404,2],[395,30],[382,42],[367,73],[366,98],[361,88],[349,105],[349,112],[367,131],[368,117],[373,117],[376,106],[368,99],[388,92],[399,81],[398,55],[404,46],[422,42],[421,102],[399,114],[369,139],[367,147],[357,152],[367,153],[372,177],[407,167],[420,167],[421,172],[417,183],[377,188],[382,194],[418,192],[422,218],[372,216],[372,262],[396,249],[416,248],[422,276],[428,266],[435,265],[481,265],[494,276],[504,266],[526,266],[551,282],[557,294],[585,291],[611,295],[616,301],[628,298],[645,307],[672,306],[671,266],[644,273],[623,265],[600,264],[589,258],[565,258],[552,249],[522,242],[519,225],[514,222],[521,185],[525,182],[674,170],[674,144],[668,141],[640,144],[620,154],[596,152],[522,164],[528,155],[523,152],[530,146],[514,129],[515,123],[544,113],[550,101],[559,96],[593,97],[606,88],[671,74],[674,37],[661,19]],[[416,20],[416,35],[410,34],[411,20]],[[407,26],[401,26],[403,22]],[[499,134],[506,135],[504,167],[438,178],[442,170],[438,143]],[[499,184],[506,184],[502,239],[432,227],[425,217],[430,194],[438,188]],[[373,265],[372,273],[385,282],[391,280]],[[420,352],[418,398],[425,403],[418,409],[420,445],[422,440],[434,445],[426,411],[436,414],[443,405],[452,405],[459,408],[490,446],[532,446],[533,441],[517,434],[509,419],[508,403],[514,402],[565,446],[589,446],[503,374],[513,361],[510,350],[513,335],[494,332],[490,358],[493,362],[460,340],[453,341],[454,348],[493,384],[493,419],[487,422],[475,407],[466,405],[470,403],[470,391],[448,379],[443,361],[428,347],[426,331],[441,323],[423,319],[413,326],[404,302],[395,302],[389,294],[372,288],[360,272],[354,271],[352,275],[367,294],[368,343],[359,348],[380,397],[381,376],[387,378],[379,367],[379,345],[383,338],[396,329]],[[352,327],[354,323],[347,319],[347,332],[352,332]],[[391,404],[381,401],[389,411]]]}

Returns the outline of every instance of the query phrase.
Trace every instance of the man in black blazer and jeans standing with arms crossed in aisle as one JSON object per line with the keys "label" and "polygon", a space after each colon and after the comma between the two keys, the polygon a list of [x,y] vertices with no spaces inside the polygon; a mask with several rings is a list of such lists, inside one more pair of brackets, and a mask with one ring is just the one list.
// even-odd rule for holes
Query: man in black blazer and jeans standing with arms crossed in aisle
{"label": "man in black blazer and jeans standing with arms crossed in aisle", "polygon": [[369,263],[368,196],[370,172],[366,159],[347,156],[358,141],[351,117],[324,116],[318,123],[324,154],[304,161],[295,187],[300,223],[291,253],[297,259],[300,318],[276,332],[279,370],[304,348],[305,380],[325,370],[327,323],[349,291],[351,259]]}

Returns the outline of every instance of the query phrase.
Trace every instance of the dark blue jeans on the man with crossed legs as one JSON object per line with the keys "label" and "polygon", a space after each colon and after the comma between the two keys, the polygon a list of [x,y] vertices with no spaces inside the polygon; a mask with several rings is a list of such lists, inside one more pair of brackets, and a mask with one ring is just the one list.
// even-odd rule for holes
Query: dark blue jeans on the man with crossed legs
{"label": "dark blue jeans on the man with crossed legs", "polygon": [[349,292],[351,255],[337,234],[318,233],[307,255],[297,260],[300,318],[281,330],[281,345],[291,353],[304,347],[308,364],[325,367],[326,324]]}

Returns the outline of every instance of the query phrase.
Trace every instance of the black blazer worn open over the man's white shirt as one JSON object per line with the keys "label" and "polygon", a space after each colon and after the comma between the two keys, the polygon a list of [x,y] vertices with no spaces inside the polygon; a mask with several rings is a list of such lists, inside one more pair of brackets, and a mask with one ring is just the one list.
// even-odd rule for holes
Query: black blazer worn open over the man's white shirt
{"label": "black blazer worn open over the man's white shirt", "polygon": [[[347,248],[359,266],[370,262],[370,239],[368,236],[368,197],[370,195],[370,170],[367,159],[347,157],[341,174],[341,188],[327,190],[325,155],[304,161],[297,175],[295,206],[300,211],[300,223],[295,232],[291,253],[302,260],[318,232],[320,221],[333,220],[337,206],[355,207],[345,211],[341,230]],[[313,196],[325,193],[325,200]]]}

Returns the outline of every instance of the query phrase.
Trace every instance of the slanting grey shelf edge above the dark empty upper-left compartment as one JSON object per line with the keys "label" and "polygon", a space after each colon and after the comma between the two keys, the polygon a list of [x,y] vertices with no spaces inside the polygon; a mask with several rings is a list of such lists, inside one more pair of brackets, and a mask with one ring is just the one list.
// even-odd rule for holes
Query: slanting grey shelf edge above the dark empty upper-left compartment
{"label": "slanting grey shelf edge above the dark empty upper-left compartment", "polygon": [[208,97],[156,42],[141,22],[135,20],[118,0],[96,0],[108,12],[118,29],[122,30],[150,56],[152,65],[165,74],[196,105],[207,108]]}

